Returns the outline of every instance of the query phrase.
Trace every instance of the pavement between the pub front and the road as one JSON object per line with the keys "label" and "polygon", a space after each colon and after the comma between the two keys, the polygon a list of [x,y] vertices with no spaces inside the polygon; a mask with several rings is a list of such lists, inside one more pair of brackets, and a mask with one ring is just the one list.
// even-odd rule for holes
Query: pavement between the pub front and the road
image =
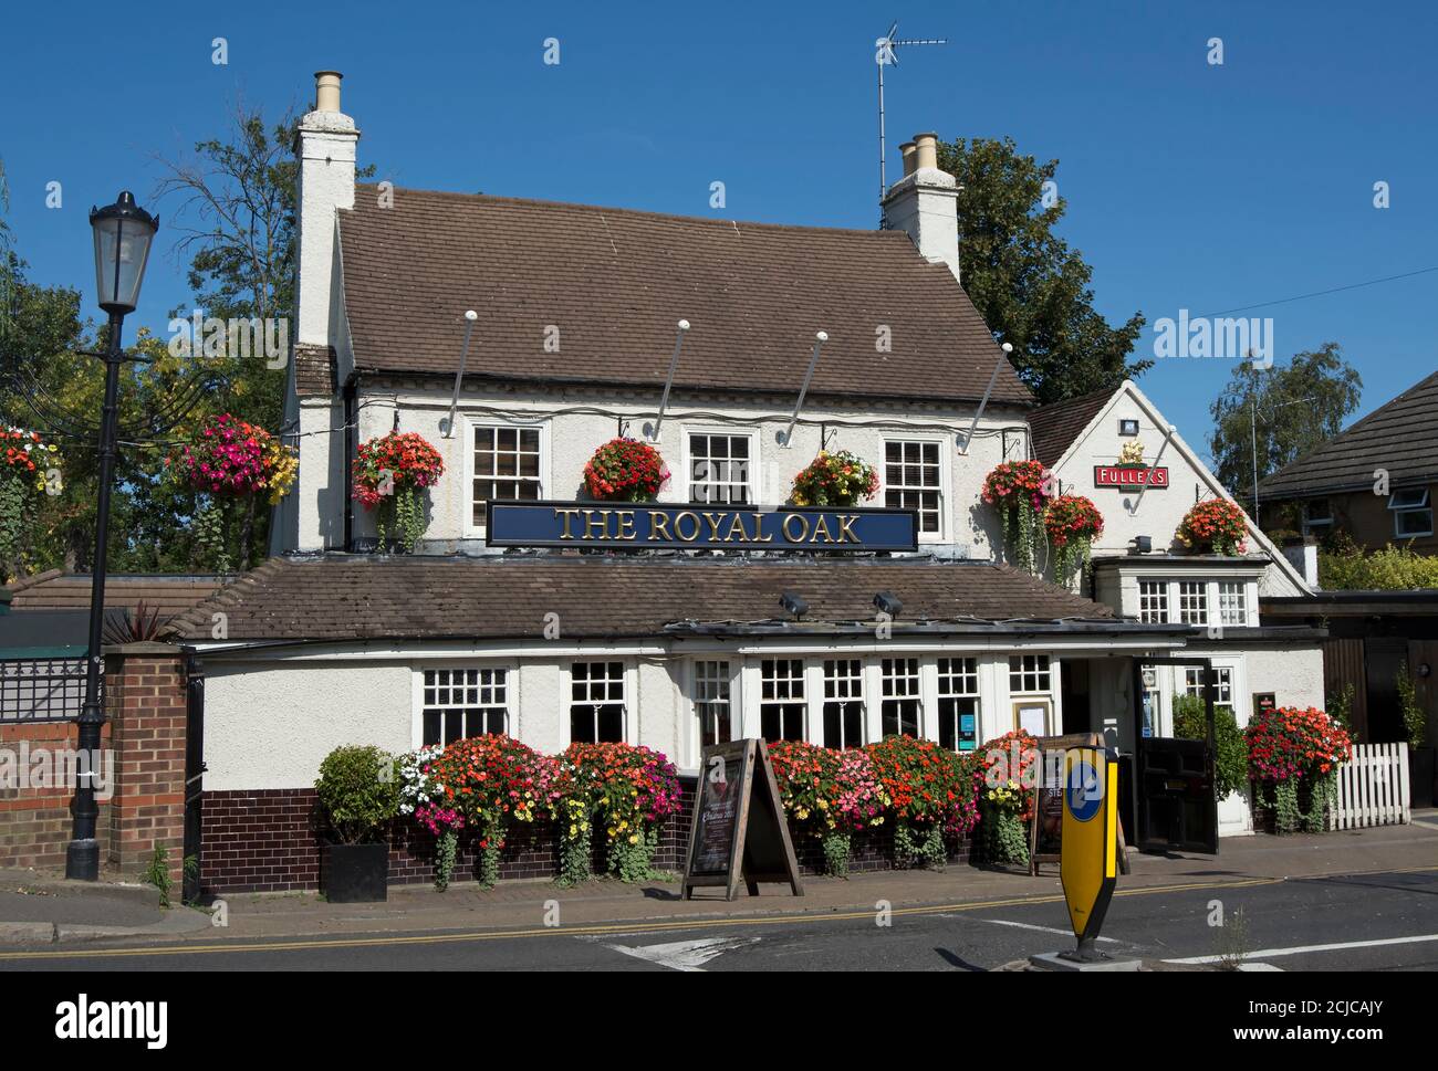
{"label": "pavement between the pub front and the road", "polygon": [[[1438,814],[1415,815],[1414,825],[1355,829],[1311,837],[1225,838],[1218,855],[1130,855],[1125,890],[1166,887],[1222,888],[1238,884],[1316,878],[1339,874],[1438,868]],[[316,893],[236,893],[221,897],[224,926],[211,926],[203,911],[162,910],[148,886],[82,886],[29,877],[16,888],[17,871],[0,871],[0,944],[19,940],[78,940],[193,934],[201,940],[443,932],[510,930],[565,926],[683,921],[686,919],[764,917],[777,914],[871,914],[881,901],[905,907],[1007,904],[1058,900],[1058,867],[1045,864],[1040,877],[1027,873],[952,865],[935,871],[881,871],[848,880],[810,877],[804,896],[787,886],[764,886],[761,896],[726,903],[712,890],[682,900],[679,881],[624,886],[595,880],[575,888],[552,881],[506,881],[496,888],[473,883],[444,893],[430,886],[401,886],[378,904],[331,904]],[[37,891],[39,890],[39,891]],[[83,901],[78,907],[76,901]],[[20,927],[19,930],[16,927]],[[24,927],[29,927],[26,930]],[[40,933],[49,929],[49,936]],[[22,936],[29,932],[30,936]]]}

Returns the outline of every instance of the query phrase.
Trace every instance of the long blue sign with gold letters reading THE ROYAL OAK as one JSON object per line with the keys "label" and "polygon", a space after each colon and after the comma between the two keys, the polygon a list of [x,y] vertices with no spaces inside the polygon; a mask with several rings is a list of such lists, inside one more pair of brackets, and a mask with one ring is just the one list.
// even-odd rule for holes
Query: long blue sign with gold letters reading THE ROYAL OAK
{"label": "long blue sign with gold letters reading THE ROYAL OAK", "polygon": [[490,502],[490,546],[719,551],[916,551],[912,509],[624,502]]}

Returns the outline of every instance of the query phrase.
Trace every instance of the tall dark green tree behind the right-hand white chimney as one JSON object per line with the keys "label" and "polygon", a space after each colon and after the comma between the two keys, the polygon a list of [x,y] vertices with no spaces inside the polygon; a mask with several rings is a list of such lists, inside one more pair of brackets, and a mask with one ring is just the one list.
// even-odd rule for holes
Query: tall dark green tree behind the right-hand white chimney
{"label": "tall dark green tree behind the right-hand white chimney", "polygon": [[1057,160],[1020,155],[1011,138],[959,138],[939,144],[939,167],[959,180],[963,289],[1014,345],[1014,367],[1041,403],[1110,390],[1152,367],[1129,361],[1143,313],[1110,326],[1093,308],[1093,269],[1054,234],[1067,208],[1045,185]]}

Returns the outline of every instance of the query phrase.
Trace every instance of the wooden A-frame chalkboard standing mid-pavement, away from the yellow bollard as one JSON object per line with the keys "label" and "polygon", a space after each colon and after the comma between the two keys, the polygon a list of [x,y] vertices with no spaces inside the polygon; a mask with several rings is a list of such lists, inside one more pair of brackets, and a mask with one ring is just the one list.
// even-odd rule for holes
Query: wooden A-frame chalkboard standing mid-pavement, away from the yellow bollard
{"label": "wooden A-frame chalkboard standing mid-pavement, away from the yellow bollard", "polygon": [[733,740],[705,748],[695,789],[695,817],[684,857],[684,900],[696,887],[722,886],[725,900],[749,896],[761,881],[787,881],[804,896],[789,825],[779,802],[764,740]]}

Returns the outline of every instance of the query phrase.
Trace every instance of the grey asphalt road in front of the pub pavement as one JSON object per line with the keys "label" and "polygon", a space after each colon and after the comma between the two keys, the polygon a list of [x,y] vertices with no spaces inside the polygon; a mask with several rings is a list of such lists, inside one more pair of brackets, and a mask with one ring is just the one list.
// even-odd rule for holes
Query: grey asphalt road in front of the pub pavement
{"label": "grey asphalt road in front of the pub pavement", "polygon": [[[1155,960],[1227,944],[1283,970],[1438,969],[1438,870],[1122,890],[1102,947]],[[1245,940],[1234,940],[1241,911]],[[881,924],[886,923],[886,924]],[[989,970],[1070,947],[1063,903],[684,919],[525,932],[385,933],[0,950],[14,970]]]}

